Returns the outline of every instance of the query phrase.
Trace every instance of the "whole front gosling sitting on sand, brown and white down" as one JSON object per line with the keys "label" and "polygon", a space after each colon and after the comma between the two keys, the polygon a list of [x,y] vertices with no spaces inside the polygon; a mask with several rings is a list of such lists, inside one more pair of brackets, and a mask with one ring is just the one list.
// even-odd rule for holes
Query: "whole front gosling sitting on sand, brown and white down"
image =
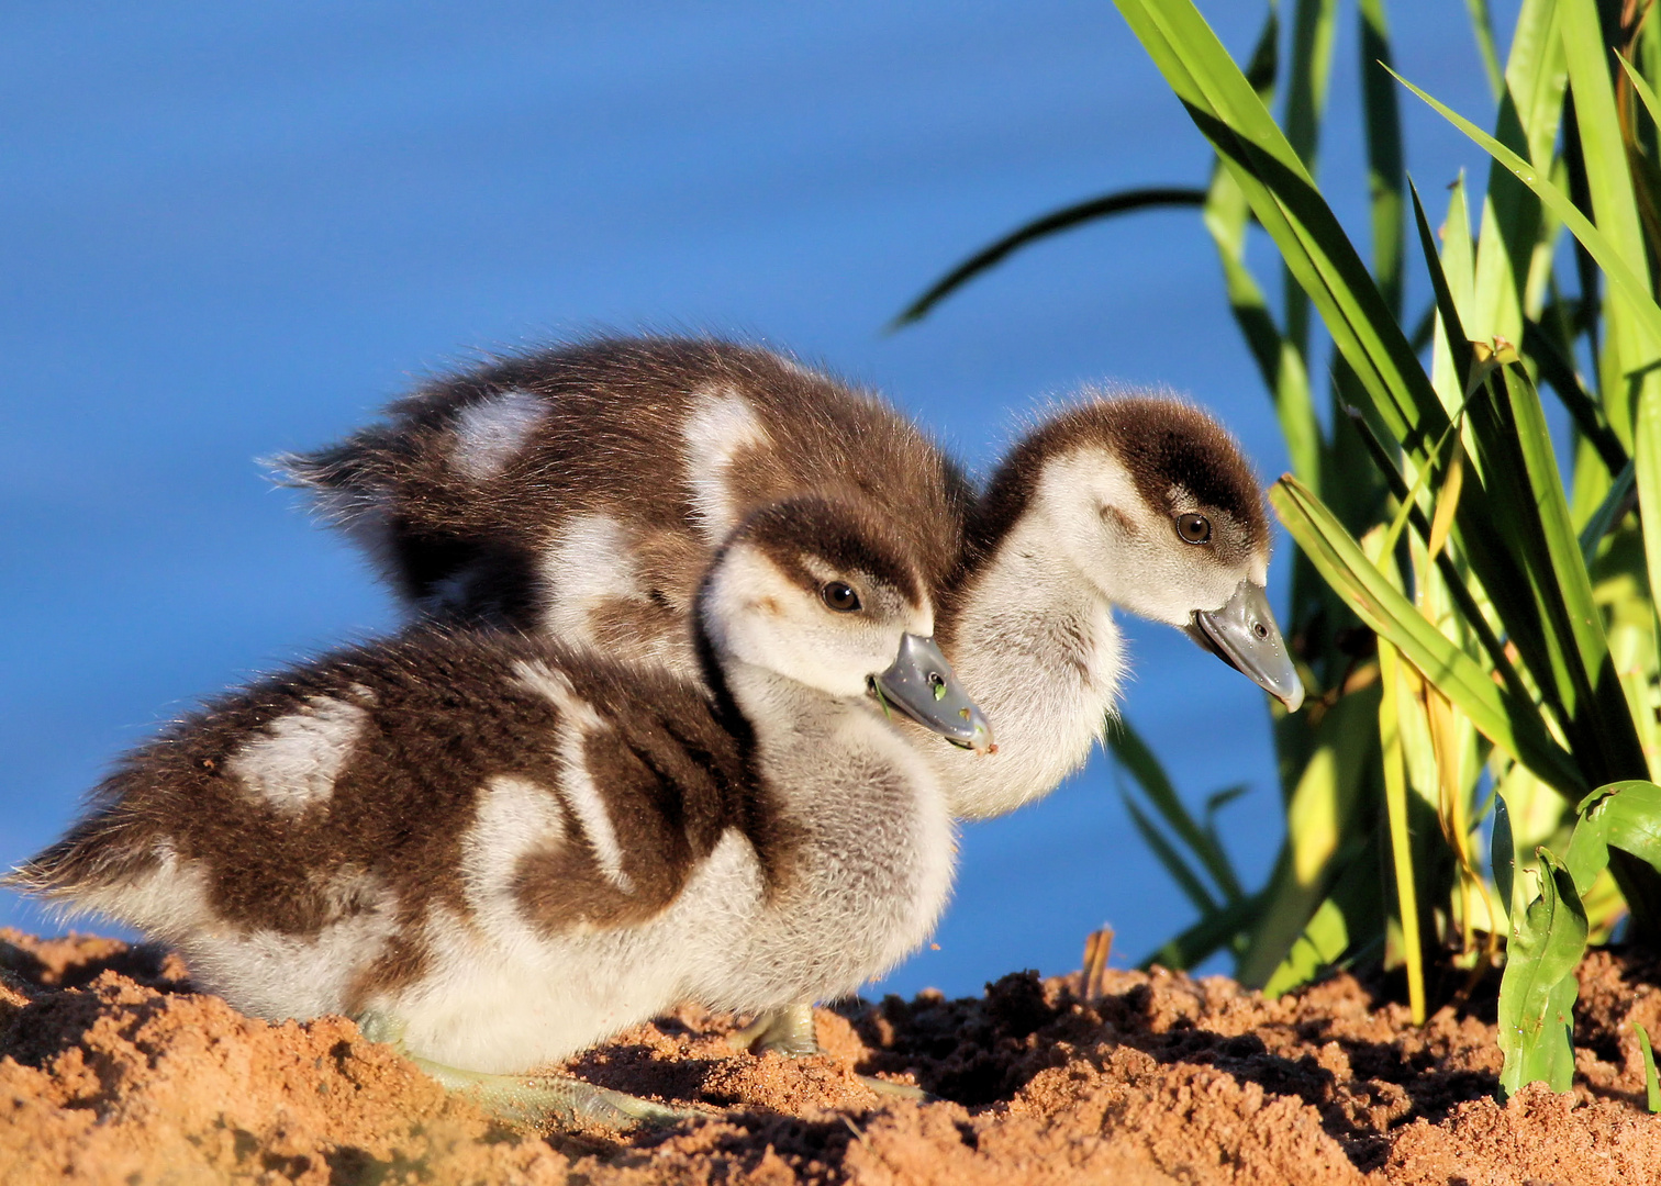
{"label": "whole front gosling sitting on sand, brown and white down", "polygon": [[885,716],[990,746],[862,508],[752,513],[694,630],[701,684],[440,625],[261,679],[128,756],[10,880],[178,947],[251,1015],[355,1017],[502,1111],[681,1115],[523,1073],[686,1000],[801,1012],[892,967],[955,847]]}

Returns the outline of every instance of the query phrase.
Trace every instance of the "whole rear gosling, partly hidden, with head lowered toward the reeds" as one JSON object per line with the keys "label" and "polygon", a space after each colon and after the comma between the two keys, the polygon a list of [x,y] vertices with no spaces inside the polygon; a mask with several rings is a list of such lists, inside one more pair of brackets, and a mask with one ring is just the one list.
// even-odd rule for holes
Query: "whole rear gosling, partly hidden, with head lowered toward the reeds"
{"label": "whole rear gosling, partly hidden, with head lowered toward the reeds", "polygon": [[874,395],[752,347],[606,339],[439,380],[282,467],[419,613],[681,673],[688,595],[723,525],[757,498],[859,500],[919,556],[942,646],[998,723],[995,756],[922,751],[958,817],[1015,811],[1088,757],[1124,673],[1113,606],[1302,703],[1264,593],[1257,482],[1221,425],[1173,399],[1086,392],[970,505]]}

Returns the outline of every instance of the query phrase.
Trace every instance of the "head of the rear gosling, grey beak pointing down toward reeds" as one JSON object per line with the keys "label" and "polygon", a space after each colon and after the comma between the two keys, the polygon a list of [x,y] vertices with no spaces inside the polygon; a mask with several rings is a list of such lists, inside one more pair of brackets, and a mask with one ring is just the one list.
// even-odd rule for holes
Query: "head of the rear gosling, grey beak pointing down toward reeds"
{"label": "head of the rear gosling, grey beak pointing down toward reeds", "polygon": [[1239,445],[1188,404],[1096,397],[1030,434],[978,535],[1033,520],[1113,605],[1186,631],[1292,711],[1304,684],[1264,593],[1269,518]]}

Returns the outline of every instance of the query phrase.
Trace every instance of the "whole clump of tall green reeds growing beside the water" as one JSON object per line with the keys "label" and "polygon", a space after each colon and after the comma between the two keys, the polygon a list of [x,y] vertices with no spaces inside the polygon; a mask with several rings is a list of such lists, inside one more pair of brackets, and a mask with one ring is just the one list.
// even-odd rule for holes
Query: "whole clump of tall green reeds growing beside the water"
{"label": "whole clump of tall green reeds growing beside the water", "polygon": [[[1116,3],[1216,151],[1201,214],[1286,437],[1271,502],[1297,545],[1286,621],[1311,689],[1274,709],[1287,837],[1256,890],[1216,804],[1194,819],[1146,746],[1115,742],[1136,827],[1201,914],[1156,958],[1226,950],[1267,992],[1382,962],[1418,1020],[1503,965],[1502,1093],[1566,1088],[1586,945],[1618,925],[1661,945],[1661,15],[1523,0],[1502,61],[1487,5],[1467,5],[1490,135],[1395,71],[1384,0],[1357,0],[1367,262],[1316,179],[1339,0],[1296,0],[1286,32],[1271,5],[1244,66],[1191,0]],[[1480,206],[1460,179],[1425,209],[1402,101],[1470,136]],[[900,321],[1149,193],[1017,229]],[[1279,251],[1277,302],[1252,228]],[[1409,316],[1420,267],[1432,299]],[[1566,414],[1563,457],[1541,392]]]}

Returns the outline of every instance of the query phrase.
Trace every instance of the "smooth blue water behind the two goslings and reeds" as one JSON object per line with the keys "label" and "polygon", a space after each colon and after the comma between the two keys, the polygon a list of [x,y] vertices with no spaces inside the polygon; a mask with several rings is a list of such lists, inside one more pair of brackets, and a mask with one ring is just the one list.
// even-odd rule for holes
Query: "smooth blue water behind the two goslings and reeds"
{"label": "smooth blue water behind the two goslings and reeds", "polygon": [[[1261,7],[1204,8],[1244,55]],[[1392,18],[1399,68],[1488,125],[1463,5]],[[1364,243],[1355,43],[1350,15],[1322,168]],[[1030,216],[1204,183],[1206,145],[1106,3],[10,5],[0,108],[0,864],[196,698],[394,623],[254,458],[478,349],[754,337],[887,390],[977,472],[1046,397],[1164,387],[1264,480],[1286,465],[1193,211],[1055,239],[879,332]],[[1457,171],[1487,168],[1417,100],[1404,115],[1440,218]],[[1410,294],[1417,314],[1417,269]],[[1249,786],[1224,836],[1261,884],[1282,832],[1262,694],[1176,631],[1126,633],[1126,716],[1191,802]],[[1065,972],[1103,922],[1123,963],[1193,917],[1098,754],[963,831],[938,950],[885,987]],[[15,895],[0,924],[53,927]]]}

